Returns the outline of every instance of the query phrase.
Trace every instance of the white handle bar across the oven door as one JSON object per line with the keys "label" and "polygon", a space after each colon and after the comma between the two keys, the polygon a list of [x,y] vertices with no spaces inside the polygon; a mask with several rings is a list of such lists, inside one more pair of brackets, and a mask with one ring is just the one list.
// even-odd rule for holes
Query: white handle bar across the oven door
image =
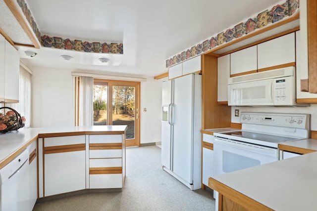
{"label": "white handle bar across the oven door", "polygon": [[243,149],[243,150],[257,151],[257,152],[262,152],[262,153],[266,153],[266,154],[276,153],[275,149],[270,149],[270,148],[266,148],[266,147],[262,147],[262,146],[258,146],[258,145],[253,146],[251,144],[244,144],[242,142],[240,144],[240,143],[231,142],[231,141],[228,141],[226,139],[222,139],[222,138],[218,138],[218,137],[214,138],[213,143],[219,143],[222,145],[232,146],[232,147],[236,147],[236,148]]}

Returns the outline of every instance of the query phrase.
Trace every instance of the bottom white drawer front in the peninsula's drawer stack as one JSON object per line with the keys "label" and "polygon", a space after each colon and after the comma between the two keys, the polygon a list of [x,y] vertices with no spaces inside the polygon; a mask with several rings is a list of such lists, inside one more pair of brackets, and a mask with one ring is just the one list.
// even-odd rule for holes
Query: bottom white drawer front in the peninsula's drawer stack
{"label": "bottom white drawer front in the peninsula's drawer stack", "polygon": [[122,188],[122,174],[90,174],[89,188]]}

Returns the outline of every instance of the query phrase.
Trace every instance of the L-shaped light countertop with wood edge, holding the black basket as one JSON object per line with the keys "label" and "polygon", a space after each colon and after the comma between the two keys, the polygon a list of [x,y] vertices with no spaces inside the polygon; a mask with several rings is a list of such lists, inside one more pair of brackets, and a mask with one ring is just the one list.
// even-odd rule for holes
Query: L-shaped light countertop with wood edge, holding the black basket
{"label": "L-shaped light countertop with wood edge, holding the black basket", "polygon": [[0,169],[41,137],[88,134],[124,134],[127,126],[80,126],[20,128],[18,131],[0,134]]}

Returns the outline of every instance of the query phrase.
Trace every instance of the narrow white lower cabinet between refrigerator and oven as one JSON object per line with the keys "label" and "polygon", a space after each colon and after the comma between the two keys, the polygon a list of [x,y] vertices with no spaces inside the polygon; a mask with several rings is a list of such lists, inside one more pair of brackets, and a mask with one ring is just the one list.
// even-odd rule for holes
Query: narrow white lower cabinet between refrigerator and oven
{"label": "narrow white lower cabinet between refrigerator and oven", "polygon": [[203,134],[203,184],[213,175],[213,135]]}

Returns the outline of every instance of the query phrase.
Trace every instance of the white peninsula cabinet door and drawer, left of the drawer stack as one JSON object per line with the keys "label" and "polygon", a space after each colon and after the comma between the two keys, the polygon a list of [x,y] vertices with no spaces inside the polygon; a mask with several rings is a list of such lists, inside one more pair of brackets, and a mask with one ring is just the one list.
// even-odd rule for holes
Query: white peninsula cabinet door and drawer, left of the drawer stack
{"label": "white peninsula cabinet door and drawer, left of the drawer stack", "polygon": [[44,196],[86,188],[84,135],[44,138]]}

